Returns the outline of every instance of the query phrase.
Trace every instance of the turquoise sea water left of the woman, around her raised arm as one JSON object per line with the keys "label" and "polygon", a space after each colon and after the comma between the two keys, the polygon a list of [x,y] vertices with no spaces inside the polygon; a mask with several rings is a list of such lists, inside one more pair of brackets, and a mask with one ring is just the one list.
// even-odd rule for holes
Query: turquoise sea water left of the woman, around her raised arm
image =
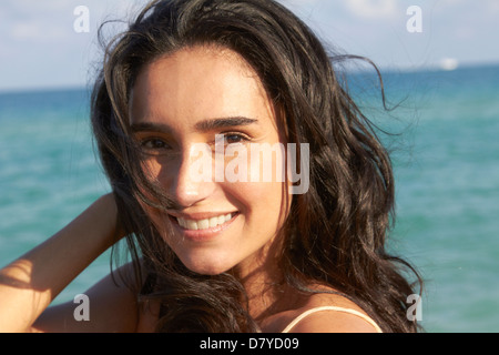
{"label": "turquoise sea water left of the woman, around her raised arm", "polygon": [[[108,191],[85,90],[0,94],[0,265],[53,235]],[[108,272],[105,253],[55,302],[73,300]]]}

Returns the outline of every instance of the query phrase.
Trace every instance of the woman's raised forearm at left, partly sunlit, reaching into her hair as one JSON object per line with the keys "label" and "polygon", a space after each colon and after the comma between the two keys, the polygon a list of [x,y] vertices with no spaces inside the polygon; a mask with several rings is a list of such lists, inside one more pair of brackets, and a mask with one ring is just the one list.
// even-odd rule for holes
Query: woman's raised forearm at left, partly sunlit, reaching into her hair
{"label": "woman's raised forearm at left, partly sunlit, reaching into her hair", "polygon": [[115,241],[112,195],[0,270],[0,332],[27,332],[52,300]]}

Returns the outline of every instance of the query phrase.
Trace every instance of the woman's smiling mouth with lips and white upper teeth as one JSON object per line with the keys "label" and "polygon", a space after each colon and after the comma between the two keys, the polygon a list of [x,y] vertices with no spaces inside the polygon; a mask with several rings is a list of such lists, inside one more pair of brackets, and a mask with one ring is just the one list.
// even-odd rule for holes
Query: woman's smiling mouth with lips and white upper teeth
{"label": "woman's smiling mouth with lips and white upper teeth", "polygon": [[170,214],[170,217],[183,236],[194,242],[204,242],[227,229],[237,215],[237,212],[232,212],[195,215]]}

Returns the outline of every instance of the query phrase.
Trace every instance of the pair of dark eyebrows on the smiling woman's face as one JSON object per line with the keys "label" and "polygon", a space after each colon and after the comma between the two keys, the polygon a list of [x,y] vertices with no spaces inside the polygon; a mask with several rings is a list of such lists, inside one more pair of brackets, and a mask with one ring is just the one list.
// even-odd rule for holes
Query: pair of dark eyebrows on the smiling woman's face
{"label": "pair of dark eyebrows on the smiling woman's face", "polygon": [[[220,118],[220,119],[208,119],[197,122],[194,128],[201,132],[208,132],[216,129],[237,126],[237,125],[249,125],[257,123],[258,120],[249,119],[244,116],[232,116],[232,118]],[[169,125],[155,122],[138,122],[131,124],[131,130],[133,133],[136,132],[161,132],[171,133],[172,130]]]}

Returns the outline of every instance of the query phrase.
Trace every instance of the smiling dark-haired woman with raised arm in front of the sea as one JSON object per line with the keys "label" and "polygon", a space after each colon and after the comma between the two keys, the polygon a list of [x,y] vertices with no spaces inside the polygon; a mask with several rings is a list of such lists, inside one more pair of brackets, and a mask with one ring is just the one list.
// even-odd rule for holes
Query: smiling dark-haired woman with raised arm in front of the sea
{"label": "smiling dark-haired woman with raised arm in front of the sea", "polygon": [[[278,3],[153,1],[108,47],[92,124],[113,194],[2,270],[2,329],[417,329],[413,268],[385,251],[389,156]],[[47,308],[123,236],[132,263],[85,292],[89,322]]]}

